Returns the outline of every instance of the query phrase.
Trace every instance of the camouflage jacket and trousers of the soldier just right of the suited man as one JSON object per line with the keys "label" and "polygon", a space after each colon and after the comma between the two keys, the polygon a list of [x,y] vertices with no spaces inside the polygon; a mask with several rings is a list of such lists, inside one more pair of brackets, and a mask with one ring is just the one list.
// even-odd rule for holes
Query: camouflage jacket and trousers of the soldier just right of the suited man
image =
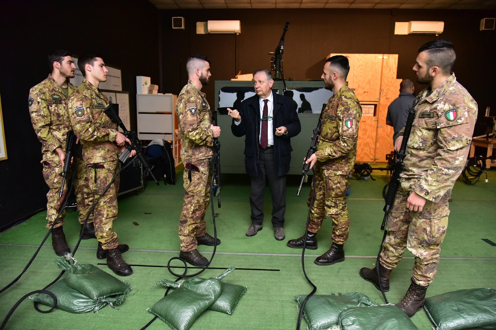
{"label": "camouflage jacket and trousers of the soldier just right of the suited man", "polygon": [[332,218],[331,238],[336,244],[344,244],[348,239],[350,218],[346,192],[350,187],[349,176],[357,155],[358,123],[361,117],[360,102],[348,85],[329,98],[322,114],[320,137],[315,151],[315,201],[310,211],[309,231],[317,233],[327,215]]}

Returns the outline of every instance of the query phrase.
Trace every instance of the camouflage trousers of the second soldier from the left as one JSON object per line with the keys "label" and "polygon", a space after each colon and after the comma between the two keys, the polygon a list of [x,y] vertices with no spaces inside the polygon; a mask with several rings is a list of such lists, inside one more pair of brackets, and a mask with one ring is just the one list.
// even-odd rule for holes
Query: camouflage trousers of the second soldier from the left
{"label": "camouflage trousers of the second soldier from the left", "polygon": [[[88,171],[88,183],[95,201],[109,186],[112,178],[119,170],[118,161],[109,161],[98,164],[90,164],[86,167]],[[117,218],[117,193],[119,191],[119,177],[114,181],[103,197],[98,201],[93,211],[93,225],[95,235],[102,243],[104,250],[116,248],[119,245],[117,234],[114,232],[113,221]]]}

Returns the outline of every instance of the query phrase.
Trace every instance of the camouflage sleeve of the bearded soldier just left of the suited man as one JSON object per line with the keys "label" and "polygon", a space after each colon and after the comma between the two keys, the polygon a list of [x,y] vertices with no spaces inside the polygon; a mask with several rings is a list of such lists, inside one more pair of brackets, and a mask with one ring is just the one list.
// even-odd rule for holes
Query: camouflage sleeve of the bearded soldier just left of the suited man
{"label": "camouflage sleeve of the bearded soldier just left of the suited man", "polygon": [[208,114],[199,111],[201,101],[194,97],[178,99],[179,123],[186,139],[197,145],[213,146],[213,132],[210,123],[202,117]]}

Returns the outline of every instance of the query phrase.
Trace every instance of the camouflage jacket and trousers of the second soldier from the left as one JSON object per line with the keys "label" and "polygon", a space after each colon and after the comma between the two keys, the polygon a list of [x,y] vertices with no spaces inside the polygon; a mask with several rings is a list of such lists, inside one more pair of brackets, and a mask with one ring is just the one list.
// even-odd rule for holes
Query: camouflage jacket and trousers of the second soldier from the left
{"label": "camouflage jacket and trousers of the second soldier from the left", "polygon": [[[117,124],[103,112],[109,105],[107,97],[86,79],[67,101],[67,111],[74,134],[82,145],[89,187],[96,201],[119,170],[119,146],[114,143]],[[105,192],[95,207],[93,223],[95,234],[105,250],[117,248],[119,241],[113,229],[117,218],[119,177]]]}

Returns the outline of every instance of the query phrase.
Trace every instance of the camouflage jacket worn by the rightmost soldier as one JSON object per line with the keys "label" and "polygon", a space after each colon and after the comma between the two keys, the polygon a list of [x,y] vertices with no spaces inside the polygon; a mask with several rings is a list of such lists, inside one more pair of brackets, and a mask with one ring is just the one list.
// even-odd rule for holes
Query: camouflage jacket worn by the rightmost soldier
{"label": "camouflage jacket worn by the rightmost soldier", "polygon": [[477,103],[452,74],[422,91],[408,139],[401,187],[436,203],[460,175],[477,119]]}

